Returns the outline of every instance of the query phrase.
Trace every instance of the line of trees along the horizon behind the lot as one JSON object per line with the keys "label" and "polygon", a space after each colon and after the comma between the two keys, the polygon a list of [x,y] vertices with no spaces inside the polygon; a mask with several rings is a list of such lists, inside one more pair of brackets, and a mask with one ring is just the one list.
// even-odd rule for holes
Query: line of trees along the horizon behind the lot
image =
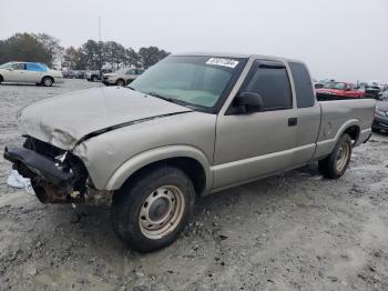
{"label": "line of trees along the horizon behind the lot", "polygon": [[157,47],[132,48],[115,41],[88,40],[80,48],[60,46],[60,40],[47,33],[16,33],[0,40],[0,64],[8,61],[42,62],[72,70],[98,70],[100,66],[113,70],[120,67],[142,67],[147,69],[170,52]]}

